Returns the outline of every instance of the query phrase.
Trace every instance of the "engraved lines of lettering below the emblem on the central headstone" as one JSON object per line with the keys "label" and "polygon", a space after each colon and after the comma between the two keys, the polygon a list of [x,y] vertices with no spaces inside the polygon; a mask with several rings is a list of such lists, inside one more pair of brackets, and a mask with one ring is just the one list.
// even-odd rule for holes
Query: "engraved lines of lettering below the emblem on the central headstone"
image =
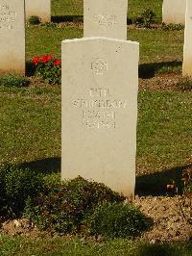
{"label": "engraved lines of lettering below the emblem on the central headstone", "polygon": [[91,88],[90,98],[79,98],[71,102],[72,107],[81,109],[82,124],[88,129],[115,129],[116,110],[125,109],[125,99],[111,99],[108,88]]}

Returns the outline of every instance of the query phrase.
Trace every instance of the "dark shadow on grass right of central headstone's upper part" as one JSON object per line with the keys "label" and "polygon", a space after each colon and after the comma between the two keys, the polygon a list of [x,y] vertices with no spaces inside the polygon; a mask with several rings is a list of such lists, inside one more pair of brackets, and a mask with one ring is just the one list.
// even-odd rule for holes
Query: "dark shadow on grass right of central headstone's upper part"
{"label": "dark shadow on grass right of central headstone's upper part", "polygon": [[139,78],[152,78],[156,72],[180,71],[181,62],[165,62],[155,64],[139,64],[138,76]]}

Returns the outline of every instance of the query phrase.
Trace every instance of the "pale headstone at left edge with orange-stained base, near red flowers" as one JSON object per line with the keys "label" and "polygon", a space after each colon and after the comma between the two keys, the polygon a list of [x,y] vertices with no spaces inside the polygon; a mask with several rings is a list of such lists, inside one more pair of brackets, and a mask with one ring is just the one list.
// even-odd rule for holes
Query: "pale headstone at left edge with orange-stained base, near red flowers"
{"label": "pale headstone at left edge with orange-stained base, near red flowers", "polygon": [[0,0],[0,73],[25,74],[24,0]]}

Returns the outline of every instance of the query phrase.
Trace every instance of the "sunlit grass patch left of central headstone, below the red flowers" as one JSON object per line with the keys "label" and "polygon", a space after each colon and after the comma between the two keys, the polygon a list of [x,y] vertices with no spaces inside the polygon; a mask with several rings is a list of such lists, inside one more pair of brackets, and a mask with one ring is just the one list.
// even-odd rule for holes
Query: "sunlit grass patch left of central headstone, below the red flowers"
{"label": "sunlit grass patch left of central headstone, below the red flowers", "polygon": [[0,90],[0,162],[60,156],[60,89]]}

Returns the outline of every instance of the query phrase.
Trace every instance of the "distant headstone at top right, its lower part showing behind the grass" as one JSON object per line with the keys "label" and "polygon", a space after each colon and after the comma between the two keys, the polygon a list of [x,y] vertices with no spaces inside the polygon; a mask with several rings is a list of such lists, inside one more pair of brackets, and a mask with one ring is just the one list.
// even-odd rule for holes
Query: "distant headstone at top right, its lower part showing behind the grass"
{"label": "distant headstone at top right, its lower part showing behind the grass", "polygon": [[186,0],[163,0],[162,22],[184,24]]}

